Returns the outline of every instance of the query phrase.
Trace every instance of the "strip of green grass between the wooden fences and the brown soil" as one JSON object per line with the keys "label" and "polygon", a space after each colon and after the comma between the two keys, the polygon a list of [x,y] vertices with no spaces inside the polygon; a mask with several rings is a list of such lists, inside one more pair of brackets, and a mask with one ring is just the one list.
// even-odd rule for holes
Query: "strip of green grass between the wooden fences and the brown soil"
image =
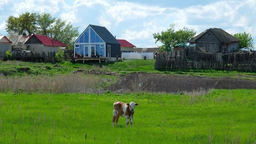
{"label": "strip of green grass between the wooden fences and the brown soil", "polygon": [[[51,63],[29,63],[22,61],[0,61],[0,74],[5,76],[24,76],[24,75],[69,75],[74,70],[103,70],[116,72],[126,75],[131,72],[150,72],[169,75],[184,76],[207,76],[207,77],[236,77],[242,79],[256,80],[255,72],[237,72],[226,70],[156,70],[154,69],[155,60],[124,60],[117,63],[87,62],[85,64],[69,61],[59,63],[62,67],[53,67]],[[22,71],[21,68],[29,68],[28,71]]]}

